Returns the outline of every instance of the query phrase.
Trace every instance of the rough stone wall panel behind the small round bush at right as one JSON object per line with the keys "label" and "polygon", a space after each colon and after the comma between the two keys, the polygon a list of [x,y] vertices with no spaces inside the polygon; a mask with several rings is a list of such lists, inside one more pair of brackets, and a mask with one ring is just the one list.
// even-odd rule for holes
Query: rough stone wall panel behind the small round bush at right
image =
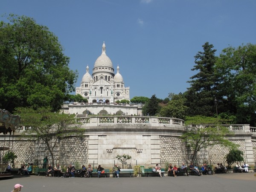
{"label": "rough stone wall panel behind the small round bush at right", "polygon": [[[239,144],[239,150],[243,152],[244,154],[244,159],[246,159],[245,156],[245,143],[244,140],[233,140],[233,143]],[[211,163],[213,165],[216,165],[217,163],[224,163],[225,161],[225,165],[227,165],[226,163],[226,155],[229,153],[229,148],[220,146],[220,145],[214,145],[212,147],[208,148],[209,150],[209,161],[211,161]]]}

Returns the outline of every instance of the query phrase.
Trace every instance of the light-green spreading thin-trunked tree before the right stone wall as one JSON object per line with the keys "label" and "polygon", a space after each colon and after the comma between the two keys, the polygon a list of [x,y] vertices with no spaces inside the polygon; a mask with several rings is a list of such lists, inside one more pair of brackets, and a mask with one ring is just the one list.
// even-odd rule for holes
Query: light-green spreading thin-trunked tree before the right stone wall
{"label": "light-green spreading thin-trunked tree before the right stone wall", "polygon": [[209,146],[221,145],[236,148],[237,145],[225,139],[232,133],[227,127],[217,125],[217,119],[206,116],[186,117],[186,132],[181,136],[182,140],[191,148],[191,161],[194,163],[198,151]]}

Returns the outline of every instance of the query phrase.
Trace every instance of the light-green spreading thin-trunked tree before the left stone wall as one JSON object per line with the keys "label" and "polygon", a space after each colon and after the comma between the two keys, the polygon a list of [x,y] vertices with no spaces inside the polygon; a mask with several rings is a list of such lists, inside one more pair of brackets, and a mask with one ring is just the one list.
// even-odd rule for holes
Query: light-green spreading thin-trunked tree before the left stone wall
{"label": "light-green spreading thin-trunked tree before the left stone wall", "polygon": [[78,127],[75,115],[51,112],[50,108],[17,108],[16,113],[20,114],[20,123],[26,127],[23,137],[43,140],[52,157],[53,167],[53,151],[61,137],[84,132]]}

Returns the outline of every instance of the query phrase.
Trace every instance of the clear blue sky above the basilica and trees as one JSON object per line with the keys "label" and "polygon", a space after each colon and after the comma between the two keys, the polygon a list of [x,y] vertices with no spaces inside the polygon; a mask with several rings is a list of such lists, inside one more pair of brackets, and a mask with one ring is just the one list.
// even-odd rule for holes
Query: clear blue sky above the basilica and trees
{"label": "clear blue sky above the basilica and trees", "polygon": [[255,0],[1,0],[4,13],[33,17],[58,37],[70,68],[79,71],[77,87],[105,41],[130,98],[185,92],[207,41],[216,55],[256,44]]}

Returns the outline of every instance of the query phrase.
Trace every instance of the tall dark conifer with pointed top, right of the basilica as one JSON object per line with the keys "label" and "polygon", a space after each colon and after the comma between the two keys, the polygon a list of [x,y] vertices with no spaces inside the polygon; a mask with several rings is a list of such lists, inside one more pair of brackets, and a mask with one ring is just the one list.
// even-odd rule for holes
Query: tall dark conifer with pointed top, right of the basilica
{"label": "tall dark conifer with pointed top, right of the basilica", "polygon": [[190,87],[185,93],[186,106],[189,116],[215,114],[214,97],[216,96],[216,82],[218,76],[214,73],[216,61],[213,45],[206,42],[203,46],[204,52],[195,55],[195,66],[193,71],[198,71],[188,81]]}

